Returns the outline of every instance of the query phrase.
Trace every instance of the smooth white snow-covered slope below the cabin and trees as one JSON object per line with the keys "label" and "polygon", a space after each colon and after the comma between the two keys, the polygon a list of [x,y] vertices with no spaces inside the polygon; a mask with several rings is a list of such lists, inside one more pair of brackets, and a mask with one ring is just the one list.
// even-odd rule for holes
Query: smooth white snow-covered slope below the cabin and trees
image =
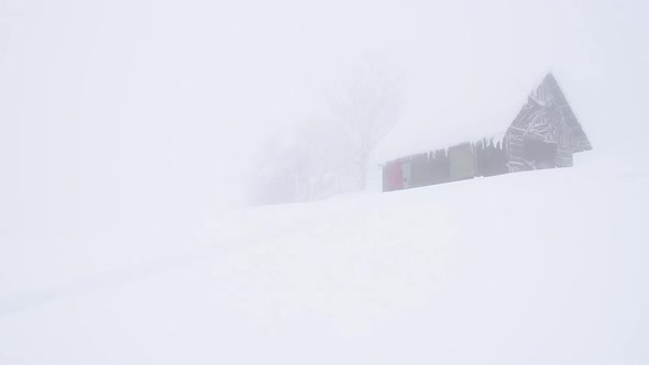
{"label": "smooth white snow-covered slope below the cabin and trees", "polygon": [[648,191],[583,163],[241,210],[96,259],[7,248],[0,364],[647,364]]}

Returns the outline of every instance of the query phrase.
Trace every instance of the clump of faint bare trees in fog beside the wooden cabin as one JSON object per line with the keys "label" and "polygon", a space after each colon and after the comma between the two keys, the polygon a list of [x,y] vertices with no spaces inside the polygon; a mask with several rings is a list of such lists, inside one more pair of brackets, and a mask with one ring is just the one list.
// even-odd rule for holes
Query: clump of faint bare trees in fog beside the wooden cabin
{"label": "clump of faint bare trees in fog beside the wooden cabin", "polygon": [[252,202],[310,201],[365,188],[372,151],[400,118],[402,76],[364,62],[326,92],[328,115],[301,124],[289,145],[261,151]]}

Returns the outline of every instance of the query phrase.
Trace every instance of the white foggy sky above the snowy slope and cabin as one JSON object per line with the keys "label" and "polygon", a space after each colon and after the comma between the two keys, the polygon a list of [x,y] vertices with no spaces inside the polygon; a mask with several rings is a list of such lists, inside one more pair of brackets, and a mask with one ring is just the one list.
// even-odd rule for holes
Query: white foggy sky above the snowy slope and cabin
{"label": "white foggy sky above the snowy slope and cabin", "polygon": [[640,141],[647,10],[645,1],[0,1],[0,240],[238,203],[251,151],[318,113],[321,88],[367,54],[405,74],[395,135],[507,123],[552,70],[594,148]]}

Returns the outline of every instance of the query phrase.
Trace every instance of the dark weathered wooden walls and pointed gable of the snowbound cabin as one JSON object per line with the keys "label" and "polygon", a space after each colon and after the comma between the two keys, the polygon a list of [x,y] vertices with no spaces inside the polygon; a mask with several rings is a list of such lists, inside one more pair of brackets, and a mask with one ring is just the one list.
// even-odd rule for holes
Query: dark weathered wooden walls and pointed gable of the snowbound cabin
{"label": "dark weathered wooden walls and pointed gable of the snowbound cabin", "polygon": [[524,170],[570,167],[591,150],[557,80],[548,74],[514,122],[499,134],[383,165],[383,191]]}

